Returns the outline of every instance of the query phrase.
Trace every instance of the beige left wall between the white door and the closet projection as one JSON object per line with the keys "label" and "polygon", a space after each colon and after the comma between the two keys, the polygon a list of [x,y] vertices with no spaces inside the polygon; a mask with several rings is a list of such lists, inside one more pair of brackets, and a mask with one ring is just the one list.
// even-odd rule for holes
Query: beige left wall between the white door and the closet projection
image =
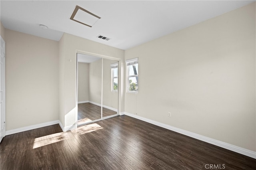
{"label": "beige left wall between the white door and the closet projection", "polygon": [[56,121],[58,42],[5,30],[6,130]]}

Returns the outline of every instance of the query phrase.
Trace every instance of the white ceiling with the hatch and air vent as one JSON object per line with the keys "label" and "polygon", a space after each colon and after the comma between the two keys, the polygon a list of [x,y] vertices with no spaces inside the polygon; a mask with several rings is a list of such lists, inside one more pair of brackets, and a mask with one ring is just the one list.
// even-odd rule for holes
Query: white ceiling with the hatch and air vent
{"label": "white ceiling with the hatch and air vent", "polygon": [[[249,3],[228,1],[0,1],[3,26],[59,41],[63,32],[120,49],[165,36]],[[92,28],[70,20],[76,5],[101,17]],[[39,24],[48,26],[42,29]],[[97,38],[102,35],[109,41]]]}

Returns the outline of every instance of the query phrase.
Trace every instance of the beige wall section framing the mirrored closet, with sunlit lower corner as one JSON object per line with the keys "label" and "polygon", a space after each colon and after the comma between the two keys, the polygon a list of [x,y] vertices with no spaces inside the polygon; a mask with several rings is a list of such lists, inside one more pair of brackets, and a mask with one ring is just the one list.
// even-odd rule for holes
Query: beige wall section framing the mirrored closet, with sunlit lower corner
{"label": "beige wall section framing the mirrored closet, with sunlit lower corner", "polygon": [[[124,50],[110,47],[64,33],[59,44],[60,61],[60,114],[59,119],[64,127],[76,124],[76,52],[105,55],[121,59],[124,62]],[[91,54],[92,55],[92,54]],[[123,72],[122,72],[123,74]],[[123,83],[122,83],[123,85]],[[124,93],[121,94],[124,103]],[[121,106],[124,109],[124,105]]]}

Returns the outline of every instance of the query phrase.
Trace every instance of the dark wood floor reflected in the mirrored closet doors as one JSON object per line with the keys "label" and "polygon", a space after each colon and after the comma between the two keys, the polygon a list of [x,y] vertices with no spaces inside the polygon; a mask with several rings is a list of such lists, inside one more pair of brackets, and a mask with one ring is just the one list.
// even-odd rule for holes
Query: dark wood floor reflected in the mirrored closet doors
{"label": "dark wood floor reflected in the mirrored closet doors", "polygon": [[[111,115],[116,115],[116,111],[110,109],[102,108],[102,116],[107,117]],[[101,107],[94,105],[92,103],[80,103],[78,104],[78,124],[88,123],[90,121],[95,121],[101,119]]]}

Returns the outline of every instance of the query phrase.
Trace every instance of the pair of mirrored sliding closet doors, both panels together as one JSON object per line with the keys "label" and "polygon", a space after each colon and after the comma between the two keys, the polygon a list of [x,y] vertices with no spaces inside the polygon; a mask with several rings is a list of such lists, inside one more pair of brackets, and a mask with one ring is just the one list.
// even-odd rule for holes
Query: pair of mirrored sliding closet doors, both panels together
{"label": "pair of mirrored sliding closet doors, both panels together", "polygon": [[77,53],[77,125],[118,115],[119,60]]}

